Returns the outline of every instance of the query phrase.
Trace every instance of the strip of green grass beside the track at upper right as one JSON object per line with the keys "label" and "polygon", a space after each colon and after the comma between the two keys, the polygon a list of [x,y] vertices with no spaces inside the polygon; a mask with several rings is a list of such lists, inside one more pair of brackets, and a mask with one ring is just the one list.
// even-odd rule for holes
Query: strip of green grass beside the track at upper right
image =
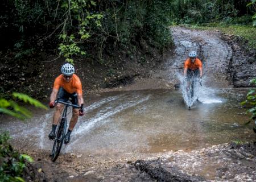
{"label": "strip of green grass beside the track at upper right", "polygon": [[241,36],[246,40],[249,48],[256,49],[256,27],[249,25],[224,24],[224,23],[207,23],[193,25],[191,28],[199,30],[219,30],[225,34]]}

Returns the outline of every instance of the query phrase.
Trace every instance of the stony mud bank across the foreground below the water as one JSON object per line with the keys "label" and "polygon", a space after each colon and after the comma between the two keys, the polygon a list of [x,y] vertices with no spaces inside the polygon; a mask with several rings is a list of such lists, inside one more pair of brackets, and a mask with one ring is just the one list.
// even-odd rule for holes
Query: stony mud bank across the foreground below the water
{"label": "stony mud bank across the foreground below the water", "polygon": [[[200,150],[137,155],[67,154],[56,163],[39,152],[40,181],[255,181],[256,144],[219,144]],[[40,156],[40,157],[39,157]],[[139,160],[137,160],[137,159]]]}

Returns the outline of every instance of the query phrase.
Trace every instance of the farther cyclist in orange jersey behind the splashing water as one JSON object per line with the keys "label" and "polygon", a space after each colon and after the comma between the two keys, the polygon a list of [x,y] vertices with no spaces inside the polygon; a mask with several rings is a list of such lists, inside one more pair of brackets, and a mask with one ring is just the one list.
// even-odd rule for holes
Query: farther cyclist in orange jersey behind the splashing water
{"label": "farther cyclist in orange jersey behind the splashing water", "polygon": [[191,80],[192,77],[200,77],[203,76],[203,64],[200,59],[196,57],[196,51],[189,52],[189,58],[185,60],[184,63],[184,80]]}

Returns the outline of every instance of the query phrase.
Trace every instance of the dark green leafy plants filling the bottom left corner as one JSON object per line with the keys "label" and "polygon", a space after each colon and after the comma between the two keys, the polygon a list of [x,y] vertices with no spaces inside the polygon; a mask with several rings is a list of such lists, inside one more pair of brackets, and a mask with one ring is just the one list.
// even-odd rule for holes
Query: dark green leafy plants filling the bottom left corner
{"label": "dark green leafy plants filling the bottom left corner", "polygon": [[24,181],[23,169],[27,162],[33,162],[31,156],[20,155],[11,147],[9,134],[0,134],[0,179],[1,181]]}

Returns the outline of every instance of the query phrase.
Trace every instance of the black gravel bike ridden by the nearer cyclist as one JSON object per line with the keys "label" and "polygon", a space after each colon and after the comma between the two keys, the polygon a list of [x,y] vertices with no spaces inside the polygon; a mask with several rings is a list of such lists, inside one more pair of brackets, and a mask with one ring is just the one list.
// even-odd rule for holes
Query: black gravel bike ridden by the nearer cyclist
{"label": "black gravel bike ridden by the nearer cyclist", "polygon": [[81,106],[79,106],[79,105],[73,105],[71,100],[68,100],[67,102],[56,100],[55,104],[57,104],[57,103],[64,104],[65,107],[64,107],[64,110],[63,110],[62,117],[61,117],[61,119],[60,119],[60,121],[57,125],[56,137],[54,139],[54,144],[53,144],[52,153],[51,153],[52,162],[55,162],[55,160],[58,158],[58,156],[60,154],[61,147],[62,147],[63,142],[64,142],[65,135],[67,133],[67,111],[68,111],[68,107],[71,106],[71,107],[76,108],[76,109],[81,108]]}

